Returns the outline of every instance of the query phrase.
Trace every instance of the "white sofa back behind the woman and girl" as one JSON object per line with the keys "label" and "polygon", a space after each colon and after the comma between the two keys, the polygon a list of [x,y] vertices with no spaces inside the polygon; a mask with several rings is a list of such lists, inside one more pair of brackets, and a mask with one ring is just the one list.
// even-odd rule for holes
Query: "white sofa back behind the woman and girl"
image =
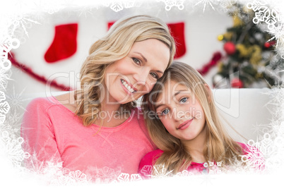
{"label": "white sofa back behind the woman and girl", "polygon": [[[215,104],[220,114],[232,126],[226,128],[232,138],[239,142],[256,141],[258,135],[268,128],[272,118],[270,111],[272,105],[268,103],[269,91],[268,88],[213,90]],[[35,97],[57,96],[62,93],[64,92],[23,94],[23,99],[26,99],[23,107]]]}

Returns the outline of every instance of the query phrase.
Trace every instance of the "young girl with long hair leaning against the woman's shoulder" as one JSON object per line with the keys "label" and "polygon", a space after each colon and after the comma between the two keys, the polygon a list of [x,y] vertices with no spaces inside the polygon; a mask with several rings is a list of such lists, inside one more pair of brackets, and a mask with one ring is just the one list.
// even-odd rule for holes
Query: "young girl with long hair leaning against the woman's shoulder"
{"label": "young girl with long hair leaning against the woman's shoulder", "polygon": [[143,96],[142,106],[150,138],[159,148],[141,159],[138,171],[146,178],[149,173],[208,172],[212,164],[242,162],[249,153],[247,145],[225,133],[210,87],[186,63],[172,63]]}

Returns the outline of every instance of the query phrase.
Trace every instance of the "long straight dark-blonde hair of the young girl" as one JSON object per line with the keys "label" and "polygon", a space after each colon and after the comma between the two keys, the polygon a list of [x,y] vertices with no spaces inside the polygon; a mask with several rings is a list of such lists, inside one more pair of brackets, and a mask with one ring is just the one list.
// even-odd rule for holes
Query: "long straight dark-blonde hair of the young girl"
{"label": "long straight dark-blonde hair of the young girl", "polygon": [[240,160],[242,148],[225,132],[213,97],[208,91],[210,89],[206,88],[203,77],[187,63],[174,62],[154,85],[153,90],[143,96],[141,104],[150,138],[160,150],[164,151],[155,161],[155,168],[159,169],[158,165],[164,165],[163,169],[177,173],[187,169],[192,160],[190,152],[187,152],[181,140],[165,129],[158,116],[153,116],[156,112],[155,102],[162,93],[162,88],[170,80],[189,87],[203,108],[207,133],[203,155],[206,161],[223,161],[222,164],[226,165],[236,158]]}

